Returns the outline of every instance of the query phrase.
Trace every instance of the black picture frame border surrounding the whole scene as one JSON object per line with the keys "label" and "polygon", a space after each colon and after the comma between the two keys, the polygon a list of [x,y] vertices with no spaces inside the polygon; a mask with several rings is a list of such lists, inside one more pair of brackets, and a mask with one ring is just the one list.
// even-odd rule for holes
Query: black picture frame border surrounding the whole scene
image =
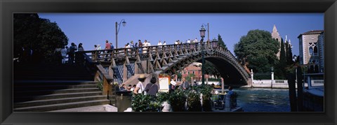
{"label": "black picture frame border surrounding the whole scene", "polygon": [[[2,0],[0,8],[0,124],[337,124],[336,0]],[[13,13],[324,13],[325,112],[13,112]]]}

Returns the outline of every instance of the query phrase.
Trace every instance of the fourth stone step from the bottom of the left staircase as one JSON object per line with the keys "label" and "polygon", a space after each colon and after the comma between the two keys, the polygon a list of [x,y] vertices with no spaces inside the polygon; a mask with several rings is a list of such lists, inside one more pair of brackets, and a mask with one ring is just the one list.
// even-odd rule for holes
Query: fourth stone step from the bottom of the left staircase
{"label": "fourth stone step from the bottom of the left staircase", "polygon": [[14,96],[41,96],[48,94],[71,94],[71,93],[80,93],[80,92],[93,92],[100,91],[98,88],[81,88],[81,89],[43,89],[43,90],[22,90],[22,91],[13,91]]}

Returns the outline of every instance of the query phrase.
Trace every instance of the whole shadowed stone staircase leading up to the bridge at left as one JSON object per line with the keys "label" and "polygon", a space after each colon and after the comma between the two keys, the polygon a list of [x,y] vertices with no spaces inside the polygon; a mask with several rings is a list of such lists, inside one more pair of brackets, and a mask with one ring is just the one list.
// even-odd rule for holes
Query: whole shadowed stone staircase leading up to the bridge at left
{"label": "whole shadowed stone staircase leading up to the bridge at left", "polygon": [[[13,111],[46,112],[110,104],[81,66],[14,66]],[[110,97],[111,98],[111,97]],[[111,101],[114,105],[114,101]]]}

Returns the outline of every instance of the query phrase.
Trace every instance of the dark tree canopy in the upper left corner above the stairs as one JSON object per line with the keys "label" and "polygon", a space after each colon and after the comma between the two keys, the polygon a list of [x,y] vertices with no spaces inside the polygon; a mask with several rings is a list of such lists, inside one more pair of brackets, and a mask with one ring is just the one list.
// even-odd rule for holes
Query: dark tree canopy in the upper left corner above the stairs
{"label": "dark tree canopy in the upper left corner above the stairs", "polygon": [[20,57],[20,50],[25,47],[43,59],[52,60],[55,48],[68,44],[58,24],[39,18],[36,13],[13,14],[13,35],[14,57]]}

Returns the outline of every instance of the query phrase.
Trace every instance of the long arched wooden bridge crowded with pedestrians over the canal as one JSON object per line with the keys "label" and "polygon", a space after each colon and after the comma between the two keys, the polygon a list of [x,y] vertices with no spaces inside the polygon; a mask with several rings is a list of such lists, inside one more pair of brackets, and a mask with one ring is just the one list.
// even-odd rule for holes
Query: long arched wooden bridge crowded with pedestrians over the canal
{"label": "long arched wooden bridge crowded with pedestrians over the canal", "polygon": [[250,75],[234,55],[217,43],[183,43],[147,47],[92,50],[76,53],[76,63],[98,67],[100,78],[121,84],[135,74],[175,74],[194,61],[205,59],[215,64],[220,75],[231,84],[247,84]]}

